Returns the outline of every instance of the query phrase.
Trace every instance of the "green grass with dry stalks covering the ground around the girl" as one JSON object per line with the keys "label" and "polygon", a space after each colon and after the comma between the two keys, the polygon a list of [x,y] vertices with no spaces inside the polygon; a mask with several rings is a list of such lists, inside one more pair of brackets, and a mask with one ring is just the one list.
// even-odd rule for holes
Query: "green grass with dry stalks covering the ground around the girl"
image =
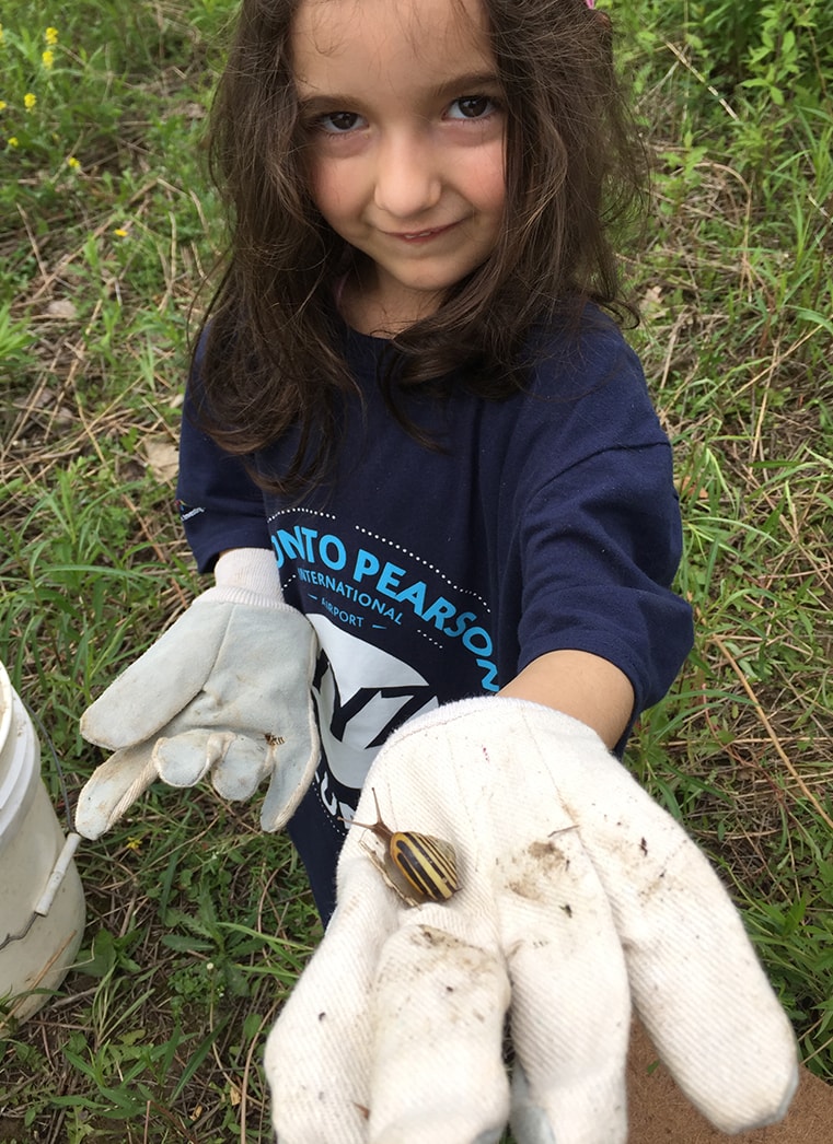
{"label": "green grass with dry stalks covering the ground around the girl", "polygon": [[[199,137],[231,7],[68,0],[60,26],[3,9],[0,656],[48,732],[62,815],[50,746],[72,801],[100,760],[81,710],[200,587],[172,470],[219,241]],[[712,5],[695,34],[693,0],[613,5],[657,170],[634,339],[675,443],[698,617],[629,765],[717,864],[833,1080],[833,110],[823,84],[778,102],[790,76],[747,8]],[[731,58],[730,11],[747,22]],[[0,1042],[0,1141],[269,1138],[263,1034],[319,936],[286,840],[255,808],[154,788],[78,865],[85,946]]]}

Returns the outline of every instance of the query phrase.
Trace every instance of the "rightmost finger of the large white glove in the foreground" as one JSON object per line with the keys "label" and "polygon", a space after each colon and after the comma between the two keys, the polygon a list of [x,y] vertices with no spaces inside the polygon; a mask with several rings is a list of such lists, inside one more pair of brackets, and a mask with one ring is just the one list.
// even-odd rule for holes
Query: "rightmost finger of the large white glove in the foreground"
{"label": "rightmost finger of the large white glove in the foreground", "polygon": [[594,808],[585,844],[657,1050],[721,1131],[777,1120],[796,1085],[795,1040],[738,912],[703,852],[625,771],[611,769],[600,789],[611,802]]}

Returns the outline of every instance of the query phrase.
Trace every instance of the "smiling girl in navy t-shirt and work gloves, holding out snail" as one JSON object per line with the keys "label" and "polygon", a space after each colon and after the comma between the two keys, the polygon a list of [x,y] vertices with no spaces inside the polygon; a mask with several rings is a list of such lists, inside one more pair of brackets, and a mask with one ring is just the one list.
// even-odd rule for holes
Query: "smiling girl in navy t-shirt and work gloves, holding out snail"
{"label": "smiling girl in navy t-shirt and work gloves, holding out snail", "polygon": [[117,753],[79,829],[157,776],[270,774],[325,921],[363,786],[360,821],[453,845],[413,909],[350,836],[269,1044],[281,1138],[495,1139],[511,1103],[518,1139],[622,1139],[632,994],[716,1123],[777,1118],[786,1019],[609,753],[691,644],[671,451],[610,317],[642,183],[609,22],[244,0],[211,154],[231,252],[180,503],[216,587],[86,713]]}

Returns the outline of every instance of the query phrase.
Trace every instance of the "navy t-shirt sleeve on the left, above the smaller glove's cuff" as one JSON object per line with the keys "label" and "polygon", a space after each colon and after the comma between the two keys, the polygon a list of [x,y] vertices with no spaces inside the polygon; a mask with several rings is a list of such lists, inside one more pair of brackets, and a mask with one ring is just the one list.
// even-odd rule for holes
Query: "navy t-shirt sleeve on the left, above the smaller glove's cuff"
{"label": "navy t-shirt sleeve on the left, above the smaller glove's cuff", "polygon": [[271,548],[262,491],[239,456],[197,427],[191,386],[182,415],[176,496],[200,572],[211,572],[228,548]]}

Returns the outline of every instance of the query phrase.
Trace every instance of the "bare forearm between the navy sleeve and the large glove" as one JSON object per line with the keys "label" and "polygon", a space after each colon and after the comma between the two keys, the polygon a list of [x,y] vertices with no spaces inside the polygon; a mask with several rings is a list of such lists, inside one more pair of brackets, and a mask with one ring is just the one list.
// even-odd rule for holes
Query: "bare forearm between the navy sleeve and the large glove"
{"label": "bare forearm between the navy sleeve and the large glove", "polygon": [[634,706],[634,691],[624,672],[601,656],[568,649],[539,656],[500,694],[572,715],[593,728],[611,750]]}

